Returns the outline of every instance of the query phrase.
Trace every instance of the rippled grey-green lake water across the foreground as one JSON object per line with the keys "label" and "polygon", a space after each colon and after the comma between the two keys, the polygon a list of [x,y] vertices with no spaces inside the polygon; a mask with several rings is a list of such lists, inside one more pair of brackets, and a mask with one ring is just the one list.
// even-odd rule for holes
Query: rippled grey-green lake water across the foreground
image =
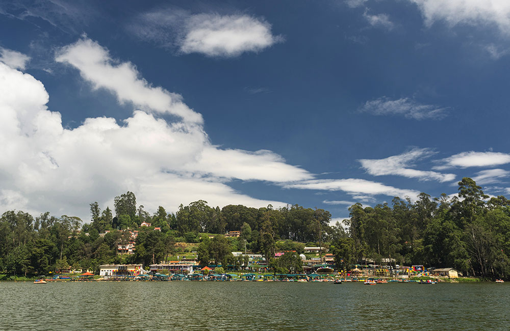
{"label": "rippled grey-green lake water across the foreground", "polygon": [[0,283],[1,330],[510,329],[510,284]]}

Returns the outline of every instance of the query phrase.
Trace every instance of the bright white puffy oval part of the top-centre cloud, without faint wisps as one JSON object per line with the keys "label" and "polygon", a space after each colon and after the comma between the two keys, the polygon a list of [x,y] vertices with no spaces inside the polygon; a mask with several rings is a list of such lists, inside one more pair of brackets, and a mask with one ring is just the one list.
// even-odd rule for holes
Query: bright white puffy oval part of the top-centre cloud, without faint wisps
{"label": "bright white puffy oval part of the top-centre cloud, without faint wisps", "polygon": [[181,51],[235,57],[247,51],[260,51],[278,41],[281,37],[273,36],[271,25],[264,20],[247,15],[199,14],[187,21]]}

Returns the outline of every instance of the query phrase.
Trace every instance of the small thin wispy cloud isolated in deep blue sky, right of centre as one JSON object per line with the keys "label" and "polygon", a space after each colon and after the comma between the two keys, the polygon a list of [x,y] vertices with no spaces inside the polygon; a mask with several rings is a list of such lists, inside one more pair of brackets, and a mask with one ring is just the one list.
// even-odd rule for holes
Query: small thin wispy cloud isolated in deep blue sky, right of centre
{"label": "small thin wispy cloud isolated in deep blue sky, right of centre", "polygon": [[415,120],[442,119],[446,116],[446,107],[421,104],[409,98],[391,100],[387,97],[367,101],[360,112],[373,115],[403,115]]}

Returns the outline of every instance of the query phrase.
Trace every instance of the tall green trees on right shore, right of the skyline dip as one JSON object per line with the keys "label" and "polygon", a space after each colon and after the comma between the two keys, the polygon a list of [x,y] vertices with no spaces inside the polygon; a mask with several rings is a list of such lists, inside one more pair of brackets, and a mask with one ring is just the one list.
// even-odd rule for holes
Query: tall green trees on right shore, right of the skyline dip
{"label": "tall green trees on right shore, right of the skyline dip", "polygon": [[341,268],[370,261],[454,267],[483,278],[510,274],[510,201],[490,198],[471,178],[458,182],[456,196],[421,193],[415,202],[356,203],[349,212],[345,235],[332,243]]}

